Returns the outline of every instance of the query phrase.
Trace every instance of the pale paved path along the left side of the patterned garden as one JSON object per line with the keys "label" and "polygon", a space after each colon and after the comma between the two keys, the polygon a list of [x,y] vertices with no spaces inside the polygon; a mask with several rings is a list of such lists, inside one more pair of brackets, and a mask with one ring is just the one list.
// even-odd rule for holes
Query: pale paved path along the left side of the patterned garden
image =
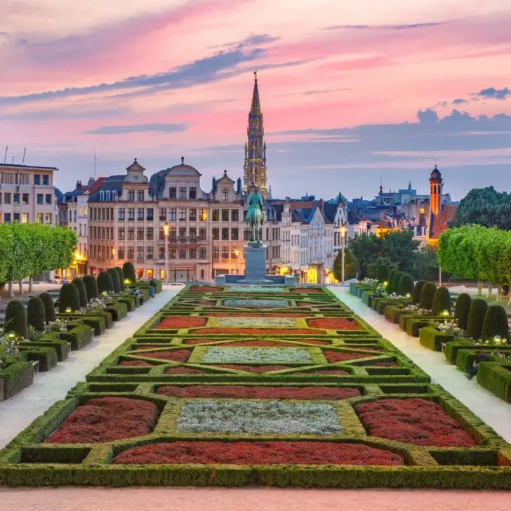
{"label": "pale paved path along the left side of the patterned garden", "polygon": [[164,286],[147,304],[127,317],[116,321],[102,336],[93,338],[82,350],[69,353],[58,366],[40,373],[34,383],[10,399],[0,402],[0,449],[4,447],[32,420],[44,413],[55,401],[63,399],[67,391],[97,366],[102,359],[140,328],[183,287]]}

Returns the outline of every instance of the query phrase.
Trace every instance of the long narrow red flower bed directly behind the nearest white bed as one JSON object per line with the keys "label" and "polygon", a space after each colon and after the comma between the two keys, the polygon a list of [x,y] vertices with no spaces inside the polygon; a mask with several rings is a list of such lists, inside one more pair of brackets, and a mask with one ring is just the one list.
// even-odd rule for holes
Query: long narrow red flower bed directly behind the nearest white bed
{"label": "long narrow red flower bed directly behind the nearest white bed", "polygon": [[253,399],[347,399],[361,395],[348,387],[246,387],[243,385],[194,385],[159,387],[158,394],[172,397],[230,397]]}

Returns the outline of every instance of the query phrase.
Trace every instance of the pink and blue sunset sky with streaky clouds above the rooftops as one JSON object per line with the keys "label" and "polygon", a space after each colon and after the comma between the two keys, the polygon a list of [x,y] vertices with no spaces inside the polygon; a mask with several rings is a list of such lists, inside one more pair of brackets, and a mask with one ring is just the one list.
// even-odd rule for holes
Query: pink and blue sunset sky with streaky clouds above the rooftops
{"label": "pink and blue sunset sky with streaky clouds above the rooftops", "polygon": [[[509,0],[0,0],[0,151],[56,185],[243,173],[258,70],[274,197],[511,190]],[[1,162],[0,161],[0,162]]]}

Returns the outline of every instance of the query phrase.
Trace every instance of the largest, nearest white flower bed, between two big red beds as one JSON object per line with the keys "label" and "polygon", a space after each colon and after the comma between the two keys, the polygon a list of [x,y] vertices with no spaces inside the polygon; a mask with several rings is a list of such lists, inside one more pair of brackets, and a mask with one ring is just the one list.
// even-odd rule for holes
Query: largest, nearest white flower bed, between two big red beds
{"label": "largest, nearest white flower bed, between two big red beds", "polygon": [[192,401],[178,418],[179,432],[336,434],[340,424],[330,404],[282,401]]}

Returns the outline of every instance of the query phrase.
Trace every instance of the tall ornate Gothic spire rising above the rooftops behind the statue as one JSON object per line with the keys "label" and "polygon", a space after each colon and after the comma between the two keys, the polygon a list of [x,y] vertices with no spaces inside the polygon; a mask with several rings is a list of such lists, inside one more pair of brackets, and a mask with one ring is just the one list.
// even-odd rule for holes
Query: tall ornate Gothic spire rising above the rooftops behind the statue
{"label": "tall ornate Gothic spire rising above the rooftops behind the statue", "polygon": [[266,143],[264,141],[265,129],[263,126],[263,112],[259,100],[258,75],[254,72],[252,105],[248,113],[248,128],[246,131],[245,161],[243,165],[243,190],[255,185],[265,199],[268,195],[266,175]]}

